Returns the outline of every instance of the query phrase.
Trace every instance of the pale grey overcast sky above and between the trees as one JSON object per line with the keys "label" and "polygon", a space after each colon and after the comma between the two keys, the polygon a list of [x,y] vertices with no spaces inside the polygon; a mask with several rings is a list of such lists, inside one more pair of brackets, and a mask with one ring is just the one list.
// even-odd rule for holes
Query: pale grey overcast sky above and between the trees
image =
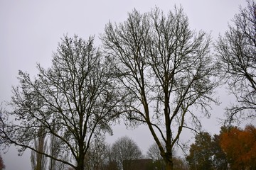
{"label": "pale grey overcast sky above and between the trees", "polygon": [[[175,4],[183,6],[192,29],[211,32],[213,40],[227,30],[239,6],[246,6],[245,0],[0,0],[0,103],[10,100],[11,86],[18,84],[19,69],[33,76],[37,74],[36,63],[50,67],[52,53],[63,35],[97,38],[107,22],[125,21],[133,8],[147,12],[158,6],[167,13]],[[100,45],[99,40],[96,45]],[[232,100],[225,90],[219,94],[223,103],[214,106],[212,118],[203,120],[203,128],[212,134],[218,133],[218,118],[223,117],[223,108]],[[114,127],[114,136],[107,137],[107,142],[123,135],[132,137],[144,154],[153,143],[145,127],[126,130],[123,125]],[[183,136],[187,140],[187,135]],[[16,149],[11,147],[1,155],[7,170],[31,169],[30,152],[17,157]]]}

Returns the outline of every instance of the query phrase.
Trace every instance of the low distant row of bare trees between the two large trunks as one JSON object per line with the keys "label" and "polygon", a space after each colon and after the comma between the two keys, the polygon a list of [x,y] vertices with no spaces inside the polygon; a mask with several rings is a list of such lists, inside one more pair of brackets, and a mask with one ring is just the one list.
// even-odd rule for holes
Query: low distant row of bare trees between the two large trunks
{"label": "low distant row of bare trees between the two large trunks", "polygon": [[[164,167],[164,160],[156,144],[152,144],[146,155],[143,155],[137,143],[127,136],[119,137],[112,145],[107,144],[103,138],[95,140],[85,157],[85,169],[91,170],[161,170]],[[174,156],[174,169],[188,169],[186,160]]]}

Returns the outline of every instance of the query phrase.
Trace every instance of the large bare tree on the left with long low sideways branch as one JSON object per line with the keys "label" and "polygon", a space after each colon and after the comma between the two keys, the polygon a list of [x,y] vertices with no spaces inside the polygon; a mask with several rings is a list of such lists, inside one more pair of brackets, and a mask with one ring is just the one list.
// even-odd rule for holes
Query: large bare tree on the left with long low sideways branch
{"label": "large bare tree on the left with long low sideways branch", "polygon": [[[109,123],[117,116],[118,89],[107,73],[112,65],[94,47],[93,40],[65,36],[53,55],[52,67],[43,69],[38,64],[34,80],[19,72],[20,85],[14,87],[9,103],[13,111],[1,118],[1,145],[20,146],[21,154],[32,149],[73,169],[84,169],[93,135],[110,132]],[[46,137],[58,139],[62,157],[33,147],[41,128]]]}

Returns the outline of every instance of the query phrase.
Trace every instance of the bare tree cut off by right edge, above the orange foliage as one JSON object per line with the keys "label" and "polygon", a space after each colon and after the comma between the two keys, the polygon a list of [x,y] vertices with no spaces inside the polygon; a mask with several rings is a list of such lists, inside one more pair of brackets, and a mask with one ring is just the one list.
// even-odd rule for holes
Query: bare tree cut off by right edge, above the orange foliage
{"label": "bare tree cut off by right edge, above the orange foliage", "polygon": [[256,4],[248,0],[240,8],[215,49],[220,61],[220,74],[237,103],[227,108],[228,121],[255,118],[256,114]]}

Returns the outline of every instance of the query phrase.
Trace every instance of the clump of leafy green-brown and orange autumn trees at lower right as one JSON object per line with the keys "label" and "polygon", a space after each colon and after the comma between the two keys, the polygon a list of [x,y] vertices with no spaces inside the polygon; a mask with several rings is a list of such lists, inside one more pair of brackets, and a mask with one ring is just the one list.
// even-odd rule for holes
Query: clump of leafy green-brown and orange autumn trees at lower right
{"label": "clump of leafy green-brown and orange autumn trees at lower right", "polygon": [[255,169],[256,128],[221,127],[219,135],[200,132],[186,157],[190,169]]}

